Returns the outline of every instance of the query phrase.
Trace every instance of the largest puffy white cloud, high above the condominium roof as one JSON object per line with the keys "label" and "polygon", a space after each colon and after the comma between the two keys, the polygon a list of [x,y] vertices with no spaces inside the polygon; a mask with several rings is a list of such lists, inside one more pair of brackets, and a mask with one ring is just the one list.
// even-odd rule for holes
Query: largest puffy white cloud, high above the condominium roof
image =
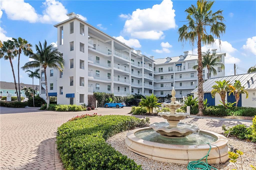
{"label": "largest puffy white cloud, high above the condominium roof", "polygon": [[[132,37],[158,40],[164,38],[164,30],[176,28],[175,10],[171,0],[163,0],[152,8],[136,9],[125,21],[123,31]],[[129,15],[122,15],[128,17]]]}

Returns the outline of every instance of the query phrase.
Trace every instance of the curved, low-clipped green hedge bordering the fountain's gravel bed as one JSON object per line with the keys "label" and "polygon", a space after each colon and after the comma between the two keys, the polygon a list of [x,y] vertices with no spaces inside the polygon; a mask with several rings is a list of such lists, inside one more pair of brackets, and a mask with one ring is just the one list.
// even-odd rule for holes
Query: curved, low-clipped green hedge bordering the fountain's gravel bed
{"label": "curved, low-clipped green hedge bordering the fountain's gravel bed", "polygon": [[[130,123],[129,123],[130,122]],[[65,169],[142,169],[105,142],[116,133],[148,125],[132,116],[84,116],[57,131],[57,149]]]}

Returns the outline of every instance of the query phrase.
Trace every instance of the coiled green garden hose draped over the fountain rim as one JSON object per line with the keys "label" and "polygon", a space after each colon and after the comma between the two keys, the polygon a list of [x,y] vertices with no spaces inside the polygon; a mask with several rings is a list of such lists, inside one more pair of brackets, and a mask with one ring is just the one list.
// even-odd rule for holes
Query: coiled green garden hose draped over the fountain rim
{"label": "coiled green garden hose draped over the fountain rim", "polygon": [[[199,159],[198,161],[191,161],[188,163],[188,166],[187,166],[187,169],[188,170],[198,170],[198,169],[201,169],[201,170],[211,170],[211,169],[215,169],[215,170],[218,170],[212,166],[210,166],[208,163],[207,163],[207,157],[209,155],[209,152],[211,150],[211,144],[210,143],[207,143],[209,146],[210,146],[210,149],[207,153],[207,155],[205,155],[204,157],[202,157],[201,159]],[[206,157],[206,160],[205,162],[204,161],[201,161],[202,159],[204,159]]]}

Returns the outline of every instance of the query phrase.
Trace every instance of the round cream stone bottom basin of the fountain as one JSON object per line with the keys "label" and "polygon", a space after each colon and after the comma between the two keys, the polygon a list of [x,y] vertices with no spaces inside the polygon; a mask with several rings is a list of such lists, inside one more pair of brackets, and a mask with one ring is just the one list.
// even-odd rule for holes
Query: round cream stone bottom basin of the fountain
{"label": "round cream stone bottom basin of the fountain", "polygon": [[[127,137],[125,139],[126,147],[132,152],[135,152],[139,155],[142,155],[157,161],[173,162],[178,164],[188,164],[190,161],[199,160],[207,154],[209,150],[209,145],[207,144],[207,142],[209,142],[211,144],[218,146],[220,150],[220,153],[219,153],[218,148],[212,145],[211,151],[207,159],[209,164],[218,164],[221,162],[226,162],[229,159],[228,151],[230,151],[230,148],[227,145],[228,139],[218,133],[210,132],[206,130],[200,130],[200,133],[202,133],[203,136],[206,136],[206,137],[209,136],[209,139],[211,140],[207,140],[205,142],[192,141],[190,143],[186,142],[187,138],[191,138],[192,140],[195,140],[195,141],[197,141],[199,138],[196,138],[193,136],[191,137],[189,135],[182,138],[170,139],[170,138],[161,136],[157,132],[155,133],[156,133],[158,142],[152,142],[152,141],[144,140],[137,137],[138,134],[136,133],[147,132],[147,131],[151,135],[152,133],[154,133],[153,130],[150,128],[134,129],[128,132]],[[152,131],[152,133],[150,131]],[[157,135],[159,135],[159,139]],[[167,139],[171,141],[168,141]],[[175,141],[176,139],[177,141]],[[166,144],[166,142],[163,142],[166,140],[168,141],[167,142],[168,144]],[[193,143],[197,143],[197,144],[195,145]]]}

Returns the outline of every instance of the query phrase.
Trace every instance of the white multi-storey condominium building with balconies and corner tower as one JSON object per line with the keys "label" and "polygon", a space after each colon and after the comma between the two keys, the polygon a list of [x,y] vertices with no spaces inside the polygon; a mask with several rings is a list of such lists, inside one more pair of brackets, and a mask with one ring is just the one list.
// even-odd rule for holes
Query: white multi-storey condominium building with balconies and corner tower
{"label": "white multi-storey condominium building with balconies and corner tower", "polygon": [[[88,104],[93,92],[117,96],[139,93],[166,96],[175,87],[176,96],[190,94],[197,85],[192,67],[197,56],[185,55],[155,59],[114,39],[81,20],[76,14],[58,23],[57,45],[65,60],[65,69],[47,68],[49,96],[60,104]],[[216,51],[215,51],[216,52]],[[225,53],[217,53],[224,63]],[[215,77],[225,75],[219,68]],[[204,70],[207,74],[207,70]],[[40,96],[46,99],[44,70],[40,70]],[[211,76],[213,77],[213,76]]]}

